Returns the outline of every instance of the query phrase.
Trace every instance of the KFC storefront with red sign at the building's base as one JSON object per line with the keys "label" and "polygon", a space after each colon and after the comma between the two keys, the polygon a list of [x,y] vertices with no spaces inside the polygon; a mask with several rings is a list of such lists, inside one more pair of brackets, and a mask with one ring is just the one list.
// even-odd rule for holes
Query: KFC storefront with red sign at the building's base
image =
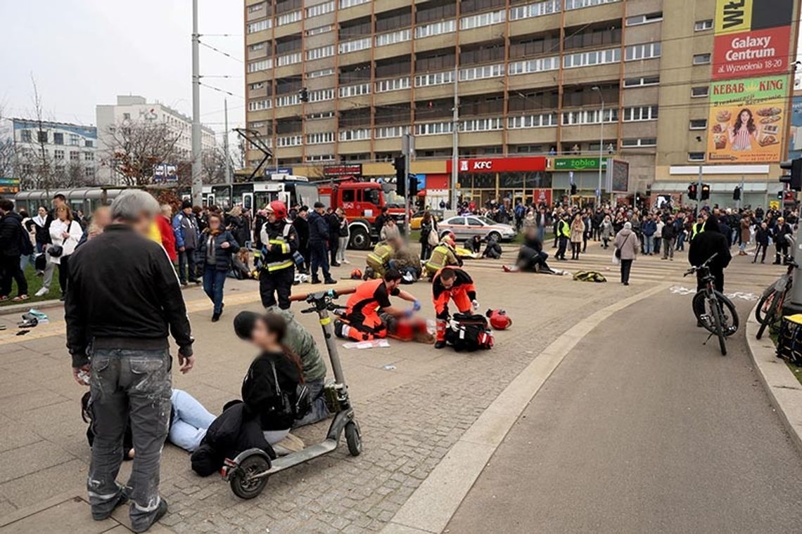
{"label": "KFC storefront with red sign at the building's base", "polygon": [[[452,171],[450,160],[446,171]],[[537,201],[535,190],[550,191],[552,187],[546,159],[542,157],[460,159],[457,171],[460,199],[480,206],[504,199],[512,204],[519,200],[531,203]]]}

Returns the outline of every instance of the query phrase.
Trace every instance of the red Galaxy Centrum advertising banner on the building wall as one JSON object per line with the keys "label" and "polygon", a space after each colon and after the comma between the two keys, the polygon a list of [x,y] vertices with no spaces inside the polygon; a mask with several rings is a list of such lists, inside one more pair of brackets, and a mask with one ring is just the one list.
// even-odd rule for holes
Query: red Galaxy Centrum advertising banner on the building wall
{"label": "red Galaxy Centrum advertising banner on the building wall", "polygon": [[788,72],[791,26],[716,35],[714,80]]}

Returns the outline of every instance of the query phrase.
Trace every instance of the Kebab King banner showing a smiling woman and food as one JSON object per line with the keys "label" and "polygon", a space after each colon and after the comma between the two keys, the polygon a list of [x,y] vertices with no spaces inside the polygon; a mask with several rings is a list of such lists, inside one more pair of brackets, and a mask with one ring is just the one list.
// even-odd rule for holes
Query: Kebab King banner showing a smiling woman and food
{"label": "Kebab King banner showing a smiling woman and food", "polygon": [[707,161],[779,162],[789,83],[788,75],[712,82]]}

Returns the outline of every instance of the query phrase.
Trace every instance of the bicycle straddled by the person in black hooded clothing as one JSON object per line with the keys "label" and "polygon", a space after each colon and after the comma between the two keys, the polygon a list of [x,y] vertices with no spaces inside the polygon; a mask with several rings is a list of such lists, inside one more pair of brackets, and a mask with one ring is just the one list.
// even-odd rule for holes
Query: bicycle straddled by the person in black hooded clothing
{"label": "bicycle straddled by the person in black hooded clothing", "polygon": [[727,299],[723,293],[715,289],[715,276],[710,271],[711,261],[718,253],[711,255],[702,265],[691,267],[683,276],[692,275],[696,272],[702,274],[703,288],[696,292],[693,299],[693,310],[696,320],[705,330],[710,332],[703,344],[715,335],[719,339],[721,355],[727,355],[727,344],[725,338],[738,331],[739,319],[735,304]]}

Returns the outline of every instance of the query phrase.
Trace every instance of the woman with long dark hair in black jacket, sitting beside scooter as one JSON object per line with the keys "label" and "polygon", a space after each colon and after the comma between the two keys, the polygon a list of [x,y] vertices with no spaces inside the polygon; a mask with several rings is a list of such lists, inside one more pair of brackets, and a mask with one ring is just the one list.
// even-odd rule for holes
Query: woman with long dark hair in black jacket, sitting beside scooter
{"label": "woman with long dark hair in black jacket, sitting beside scooter", "polygon": [[[244,416],[259,420],[265,440],[277,455],[300,450],[303,442],[290,437],[290,430],[295,420],[306,416],[310,406],[299,403],[302,399],[298,396],[298,386],[304,383],[303,366],[298,355],[285,344],[287,323],[281,315],[269,313],[261,315],[248,331],[242,326],[248,321],[241,313],[234,318],[234,330],[261,351],[242,381]],[[302,407],[296,411],[294,407],[298,404]]]}

